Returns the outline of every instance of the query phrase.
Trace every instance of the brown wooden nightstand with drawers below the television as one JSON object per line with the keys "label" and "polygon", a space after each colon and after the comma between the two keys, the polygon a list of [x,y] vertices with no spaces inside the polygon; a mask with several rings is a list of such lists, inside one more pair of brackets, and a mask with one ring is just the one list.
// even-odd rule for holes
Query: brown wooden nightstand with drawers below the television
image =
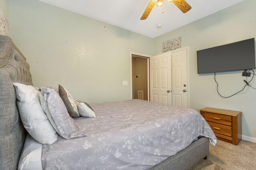
{"label": "brown wooden nightstand with drawers below the television", "polygon": [[212,128],[217,139],[238,145],[242,140],[242,112],[206,107],[200,114]]}

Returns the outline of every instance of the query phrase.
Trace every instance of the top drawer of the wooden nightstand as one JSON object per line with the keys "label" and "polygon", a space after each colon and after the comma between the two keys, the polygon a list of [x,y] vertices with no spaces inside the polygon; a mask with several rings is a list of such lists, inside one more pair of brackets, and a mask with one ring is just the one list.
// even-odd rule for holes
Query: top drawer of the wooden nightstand
{"label": "top drawer of the wooden nightstand", "polygon": [[204,119],[206,121],[220,123],[223,125],[229,125],[229,126],[232,125],[232,116],[228,116],[228,115],[220,115],[216,113],[204,112]]}

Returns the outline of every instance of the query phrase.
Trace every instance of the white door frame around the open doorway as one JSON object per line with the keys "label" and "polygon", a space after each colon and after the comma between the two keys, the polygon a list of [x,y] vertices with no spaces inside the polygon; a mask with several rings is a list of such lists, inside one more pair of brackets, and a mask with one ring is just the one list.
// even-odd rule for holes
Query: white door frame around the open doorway
{"label": "white door frame around the open doorway", "polygon": [[130,52],[130,81],[131,81],[131,99],[132,99],[132,56],[138,56],[138,57],[144,57],[147,58],[148,61],[148,101],[150,101],[150,94],[149,94],[149,88],[150,88],[150,82],[149,82],[149,58],[151,55],[146,55],[146,54],[141,54],[141,53],[135,53],[135,52]]}

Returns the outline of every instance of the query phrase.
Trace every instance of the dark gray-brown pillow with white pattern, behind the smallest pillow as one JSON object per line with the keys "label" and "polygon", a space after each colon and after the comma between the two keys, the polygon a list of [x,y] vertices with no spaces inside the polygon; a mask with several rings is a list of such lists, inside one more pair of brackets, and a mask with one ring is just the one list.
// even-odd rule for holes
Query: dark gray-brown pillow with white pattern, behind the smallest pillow
{"label": "dark gray-brown pillow with white pattern, behind the smallest pillow", "polygon": [[72,98],[70,93],[61,85],[59,85],[59,94],[68,110],[68,114],[73,118],[79,117],[80,115],[75,100]]}

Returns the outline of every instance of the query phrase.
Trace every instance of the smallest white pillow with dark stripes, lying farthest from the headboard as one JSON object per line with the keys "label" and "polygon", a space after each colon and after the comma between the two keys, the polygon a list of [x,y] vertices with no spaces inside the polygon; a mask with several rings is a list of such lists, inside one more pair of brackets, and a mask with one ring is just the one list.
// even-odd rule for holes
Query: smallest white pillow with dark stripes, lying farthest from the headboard
{"label": "smallest white pillow with dark stripes, lying farthest from the headboard", "polygon": [[82,100],[75,100],[75,101],[78,107],[78,112],[82,117],[96,117],[94,110],[88,103]]}

